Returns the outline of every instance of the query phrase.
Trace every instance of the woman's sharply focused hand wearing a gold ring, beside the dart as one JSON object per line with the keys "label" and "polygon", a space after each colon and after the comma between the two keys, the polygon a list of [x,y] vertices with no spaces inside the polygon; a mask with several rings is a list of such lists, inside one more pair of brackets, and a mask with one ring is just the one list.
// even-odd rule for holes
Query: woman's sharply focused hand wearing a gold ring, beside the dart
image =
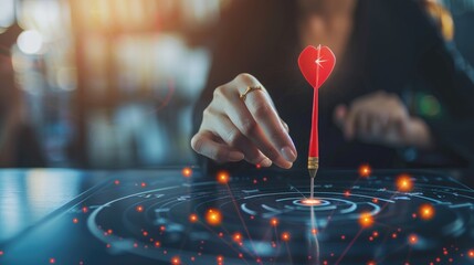
{"label": "woman's sharply focused hand wearing a gold ring, beside the dart", "polygon": [[[247,87],[262,87],[240,95]],[[250,74],[215,88],[212,102],[204,109],[199,131],[192,137],[194,151],[218,162],[246,161],[270,167],[291,168],[296,148],[288,127],[278,114],[262,84]]]}

